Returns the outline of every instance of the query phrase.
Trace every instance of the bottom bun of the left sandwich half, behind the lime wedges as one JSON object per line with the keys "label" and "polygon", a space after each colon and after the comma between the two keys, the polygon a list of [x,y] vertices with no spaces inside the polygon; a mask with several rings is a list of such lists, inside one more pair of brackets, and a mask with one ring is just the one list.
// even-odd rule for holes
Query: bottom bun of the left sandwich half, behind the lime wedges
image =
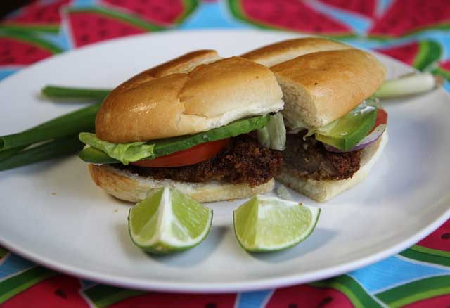
{"label": "bottom bun of the left sandwich half, behind the lime wedges", "polygon": [[249,198],[257,193],[269,193],[274,188],[274,179],[259,186],[232,184],[224,181],[207,183],[179,182],[170,179],[155,180],[117,169],[110,165],[89,165],[91,177],[103,191],[120,200],[139,202],[147,197],[148,191],[170,186],[198,202],[213,202]]}

